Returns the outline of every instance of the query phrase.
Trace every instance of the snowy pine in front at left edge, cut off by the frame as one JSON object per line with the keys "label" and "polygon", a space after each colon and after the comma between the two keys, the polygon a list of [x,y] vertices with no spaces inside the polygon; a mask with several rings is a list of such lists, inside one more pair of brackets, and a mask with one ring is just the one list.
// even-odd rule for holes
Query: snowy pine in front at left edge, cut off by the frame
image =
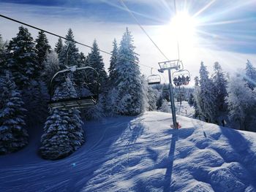
{"label": "snowy pine in front at left edge, cut off by the frame", "polygon": [[28,144],[25,112],[20,92],[10,72],[0,78],[0,154],[11,153]]}

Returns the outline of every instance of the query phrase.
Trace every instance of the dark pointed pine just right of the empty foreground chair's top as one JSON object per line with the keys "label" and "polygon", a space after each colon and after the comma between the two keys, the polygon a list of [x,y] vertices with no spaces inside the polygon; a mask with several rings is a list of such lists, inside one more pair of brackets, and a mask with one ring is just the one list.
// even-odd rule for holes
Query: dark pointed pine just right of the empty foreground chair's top
{"label": "dark pointed pine just right of the empty foreground chair's top", "polygon": [[[100,91],[104,91],[106,82],[107,82],[107,73],[105,72],[105,67],[102,59],[102,55],[99,54],[99,47],[96,40],[94,40],[91,53],[89,53],[87,62],[89,66],[93,67],[99,74],[99,84]],[[91,77],[94,79],[94,77]]]}

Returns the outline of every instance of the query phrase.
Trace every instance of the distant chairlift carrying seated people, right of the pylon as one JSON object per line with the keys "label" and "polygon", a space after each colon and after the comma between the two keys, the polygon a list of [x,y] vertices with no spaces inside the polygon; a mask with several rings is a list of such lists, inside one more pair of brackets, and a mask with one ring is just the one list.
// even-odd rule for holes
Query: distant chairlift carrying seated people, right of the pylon
{"label": "distant chairlift carrying seated people, right of the pylon", "polygon": [[190,73],[187,69],[181,69],[177,72],[173,72],[173,83],[176,86],[189,85],[190,80]]}

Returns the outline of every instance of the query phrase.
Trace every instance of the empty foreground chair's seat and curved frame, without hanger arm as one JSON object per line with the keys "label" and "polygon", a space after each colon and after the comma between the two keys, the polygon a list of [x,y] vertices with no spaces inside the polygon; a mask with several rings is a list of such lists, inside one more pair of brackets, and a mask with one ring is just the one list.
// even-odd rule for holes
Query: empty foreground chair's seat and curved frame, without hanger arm
{"label": "empty foreground chair's seat and curved frame, without hanger arm", "polygon": [[[91,92],[91,94],[78,96],[75,98],[53,99],[54,89],[57,87],[55,84],[57,77],[60,77],[61,74],[63,74],[65,77],[66,75],[74,74],[75,72],[79,72],[79,71],[83,71],[86,74],[86,71],[88,72],[89,70],[91,72],[94,72],[94,74],[96,74],[96,80],[93,80],[89,83],[86,82],[85,80],[85,82],[83,82],[82,84],[86,89],[88,89]],[[90,85],[90,87],[88,85]],[[98,99],[99,99],[99,74],[91,66],[83,66],[83,67],[71,66],[69,67],[69,69],[64,69],[54,74],[53,78],[50,81],[50,101],[48,102],[48,106],[52,110],[55,110],[55,109],[70,110],[70,109],[82,109],[87,107],[94,107],[95,105],[97,105]]]}

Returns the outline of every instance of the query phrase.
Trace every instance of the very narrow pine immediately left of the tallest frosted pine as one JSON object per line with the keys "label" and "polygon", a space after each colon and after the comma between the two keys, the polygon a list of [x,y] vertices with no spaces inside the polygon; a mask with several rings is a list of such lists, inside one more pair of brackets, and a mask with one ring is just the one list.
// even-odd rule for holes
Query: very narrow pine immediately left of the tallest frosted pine
{"label": "very narrow pine immediately left of the tallest frosted pine", "polygon": [[109,82],[110,85],[115,87],[115,81],[116,81],[116,61],[117,61],[117,54],[118,54],[118,47],[116,43],[116,39],[113,40],[113,50],[112,50],[112,55],[110,58],[110,67],[108,68],[109,72]]}

